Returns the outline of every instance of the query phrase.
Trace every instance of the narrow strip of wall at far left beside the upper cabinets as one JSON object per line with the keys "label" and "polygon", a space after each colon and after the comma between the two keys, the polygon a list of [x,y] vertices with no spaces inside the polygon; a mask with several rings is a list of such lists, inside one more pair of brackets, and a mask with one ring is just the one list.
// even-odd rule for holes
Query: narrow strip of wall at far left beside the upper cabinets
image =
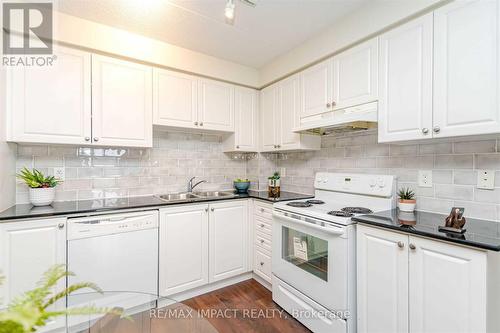
{"label": "narrow strip of wall at far left beside the upper cabinets", "polygon": [[16,145],[5,142],[5,71],[0,69],[0,211],[16,203]]}

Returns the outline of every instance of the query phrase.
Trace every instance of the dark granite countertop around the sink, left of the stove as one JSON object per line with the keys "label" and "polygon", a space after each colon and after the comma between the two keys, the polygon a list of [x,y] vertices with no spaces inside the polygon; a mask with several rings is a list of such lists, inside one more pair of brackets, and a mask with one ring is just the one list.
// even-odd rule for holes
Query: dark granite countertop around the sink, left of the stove
{"label": "dark granite countertop around the sink, left of the stove", "polygon": [[0,212],[0,222],[8,222],[12,220],[50,217],[50,216],[68,216],[88,213],[98,213],[112,210],[122,209],[141,209],[152,208],[169,205],[183,205],[190,203],[216,202],[223,200],[247,199],[255,198],[268,202],[278,202],[287,200],[309,199],[313,195],[299,194],[292,192],[281,192],[279,198],[270,198],[267,191],[248,191],[246,194],[237,194],[235,197],[218,198],[218,199],[195,199],[177,202],[165,202],[156,196],[142,196],[130,198],[112,198],[112,199],[95,199],[82,201],[59,201],[54,202],[50,206],[34,207],[31,204],[22,204],[12,206],[3,212]]}

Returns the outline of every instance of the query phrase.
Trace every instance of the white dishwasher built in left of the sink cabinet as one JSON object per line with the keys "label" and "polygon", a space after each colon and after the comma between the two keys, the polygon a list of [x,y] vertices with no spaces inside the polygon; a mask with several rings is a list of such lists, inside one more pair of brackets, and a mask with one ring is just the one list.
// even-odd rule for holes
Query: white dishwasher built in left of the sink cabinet
{"label": "white dishwasher built in left of the sink cabinet", "polygon": [[[154,306],[158,295],[158,211],[68,220],[68,285],[93,282],[69,306],[121,307],[131,314]],[[70,326],[88,320],[70,317]]]}

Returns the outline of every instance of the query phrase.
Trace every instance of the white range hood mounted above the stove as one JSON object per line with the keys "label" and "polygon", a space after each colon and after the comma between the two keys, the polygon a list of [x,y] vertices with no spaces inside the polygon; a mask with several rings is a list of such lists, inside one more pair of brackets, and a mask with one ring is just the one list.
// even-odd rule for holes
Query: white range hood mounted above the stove
{"label": "white range hood mounted above the stove", "polygon": [[296,133],[330,135],[377,127],[377,102],[329,111],[301,119]]}

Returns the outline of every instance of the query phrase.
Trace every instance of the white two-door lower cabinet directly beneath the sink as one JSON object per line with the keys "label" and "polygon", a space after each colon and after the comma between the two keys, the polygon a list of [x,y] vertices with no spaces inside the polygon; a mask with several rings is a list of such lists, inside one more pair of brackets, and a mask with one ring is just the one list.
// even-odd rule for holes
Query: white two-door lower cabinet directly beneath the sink
{"label": "white two-door lower cabinet directly beneath the sink", "polygon": [[247,201],[160,209],[160,296],[248,271]]}

